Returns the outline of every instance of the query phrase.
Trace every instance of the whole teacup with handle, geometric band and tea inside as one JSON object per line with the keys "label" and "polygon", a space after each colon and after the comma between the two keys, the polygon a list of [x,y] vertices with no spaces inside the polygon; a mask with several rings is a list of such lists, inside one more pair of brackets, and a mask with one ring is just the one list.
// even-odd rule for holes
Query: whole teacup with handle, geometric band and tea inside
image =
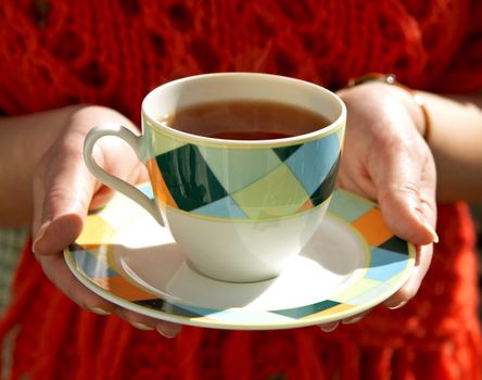
{"label": "whole teacup with handle, geometric band and tea inside", "polygon": [[[240,127],[240,115],[263,106],[275,122],[262,111],[256,126],[244,121]],[[227,114],[205,122],[205,107],[224,107]],[[296,124],[291,117],[296,110],[313,122]],[[185,114],[194,115],[190,125],[181,121]],[[254,73],[199,75],[145,97],[141,136],[115,124],[94,127],[84,156],[100,181],[169,228],[194,270],[223,281],[253,282],[278,276],[320,226],[345,119],[340,98],[312,83]],[[148,167],[154,200],[94,162],[92,150],[103,136],[124,139],[136,151]]]}

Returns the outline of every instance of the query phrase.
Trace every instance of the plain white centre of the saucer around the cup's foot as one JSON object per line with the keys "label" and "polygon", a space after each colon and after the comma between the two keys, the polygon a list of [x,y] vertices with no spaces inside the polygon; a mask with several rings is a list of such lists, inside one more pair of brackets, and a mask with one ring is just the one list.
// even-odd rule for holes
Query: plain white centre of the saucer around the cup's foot
{"label": "plain white centre of the saucer around the cup's foot", "polygon": [[[347,287],[366,271],[368,251],[363,238],[331,216],[324,218],[313,239],[278,277],[250,283],[218,281],[200,274],[167,229],[149,217],[140,221],[119,231],[112,261],[132,283],[170,302],[213,309],[303,307]],[[148,241],[139,239],[141,230],[161,233]]]}

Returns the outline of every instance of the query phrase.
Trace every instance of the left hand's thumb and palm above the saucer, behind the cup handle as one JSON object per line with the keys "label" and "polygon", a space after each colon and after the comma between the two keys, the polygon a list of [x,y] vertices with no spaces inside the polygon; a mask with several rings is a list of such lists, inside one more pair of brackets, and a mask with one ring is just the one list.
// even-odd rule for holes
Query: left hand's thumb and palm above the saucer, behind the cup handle
{"label": "left hand's thumb and palm above the saucer, behind the cup handle", "polygon": [[[98,207],[112,195],[112,191],[104,188],[97,194],[101,186],[88,172],[83,156],[87,132],[105,121],[117,121],[135,129],[128,119],[112,110],[79,109],[71,115],[59,140],[37,165],[33,225],[36,252],[51,254],[68,245],[79,235],[89,207]],[[102,148],[96,147],[93,154],[99,165],[109,166],[105,167],[107,170],[120,174],[123,178],[137,179],[140,163],[136,154],[126,149],[125,142],[105,138],[98,145]]]}

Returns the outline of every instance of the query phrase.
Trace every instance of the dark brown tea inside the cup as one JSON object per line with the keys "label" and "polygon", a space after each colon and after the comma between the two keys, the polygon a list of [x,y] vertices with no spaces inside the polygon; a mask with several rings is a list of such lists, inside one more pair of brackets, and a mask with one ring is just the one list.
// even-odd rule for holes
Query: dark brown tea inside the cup
{"label": "dark brown tea inside the cup", "polygon": [[309,110],[274,102],[233,100],[196,104],[161,119],[188,134],[229,140],[272,140],[305,135],[330,122]]}

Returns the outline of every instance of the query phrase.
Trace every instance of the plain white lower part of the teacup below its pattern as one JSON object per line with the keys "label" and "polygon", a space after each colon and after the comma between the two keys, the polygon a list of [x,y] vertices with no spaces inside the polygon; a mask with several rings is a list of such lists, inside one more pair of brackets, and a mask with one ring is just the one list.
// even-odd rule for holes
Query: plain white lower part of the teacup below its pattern
{"label": "plain white lower part of the teacup below its pattern", "polygon": [[329,201],[275,221],[220,221],[167,208],[165,220],[181,251],[201,274],[221,281],[277,277],[317,231]]}

